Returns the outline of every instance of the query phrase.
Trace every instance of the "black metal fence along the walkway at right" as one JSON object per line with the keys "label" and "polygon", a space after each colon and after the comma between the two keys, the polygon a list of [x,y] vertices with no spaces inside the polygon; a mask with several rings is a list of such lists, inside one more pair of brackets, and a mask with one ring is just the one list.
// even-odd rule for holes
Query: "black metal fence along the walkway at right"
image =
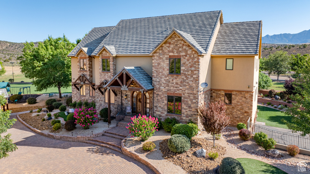
{"label": "black metal fence along the walkway at right", "polygon": [[257,125],[248,120],[248,130],[253,134],[263,132],[268,135],[268,138],[273,138],[277,144],[283,145],[296,145],[301,149],[310,150],[310,137],[303,137],[292,133],[285,133],[265,128],[261,125]]}

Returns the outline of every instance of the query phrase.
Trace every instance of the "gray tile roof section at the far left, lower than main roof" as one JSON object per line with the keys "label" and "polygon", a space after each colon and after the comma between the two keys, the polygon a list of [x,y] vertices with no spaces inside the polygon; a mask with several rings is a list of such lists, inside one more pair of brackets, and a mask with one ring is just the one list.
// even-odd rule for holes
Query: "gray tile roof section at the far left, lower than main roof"
{"label": "gray tile roof section at the far left, lower than main roof", "polygon": [[99,46],[99,44],[108,36],[112,31],[112,27],[96,27],[93,28],[82,41],[69,53],[68,56],[75,56],[75,54],[83,47],[82,49],[89,56],[91,53]]}

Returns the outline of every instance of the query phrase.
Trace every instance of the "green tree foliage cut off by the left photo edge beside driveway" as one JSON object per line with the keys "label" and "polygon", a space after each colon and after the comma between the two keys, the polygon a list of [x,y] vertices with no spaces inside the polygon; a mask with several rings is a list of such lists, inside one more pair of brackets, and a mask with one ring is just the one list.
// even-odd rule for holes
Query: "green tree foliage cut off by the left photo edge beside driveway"
{"label": "green tree foliage cut off by the left photo edge beside driveway", "polygon": [[[4,105],[7,103],[4,94],[0,95],[0,105]],[[7,129],[11,128],[11,126],[15,123],[16,119],[10,120],[11,111],[2,111],[0,109],[0,159],[9,156],[9,152],[13,152],[17,149],[16,145],[13,144],[13,140],[11,138],[11,134],[2,137],[2,133],[6,133]]]}

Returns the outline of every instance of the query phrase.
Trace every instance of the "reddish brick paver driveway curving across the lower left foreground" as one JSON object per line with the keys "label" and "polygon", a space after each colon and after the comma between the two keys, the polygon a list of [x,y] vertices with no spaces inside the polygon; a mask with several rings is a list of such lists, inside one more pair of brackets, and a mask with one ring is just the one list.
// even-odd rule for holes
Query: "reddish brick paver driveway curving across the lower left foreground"
{"label": "reddish brick paver driveway curving across the lower left foreground", "polygon": [[153,173],[121,153],[86,143],[44,137],[18,120],[8,133],[12,134],[18,150],[0,159],[1,174]]}

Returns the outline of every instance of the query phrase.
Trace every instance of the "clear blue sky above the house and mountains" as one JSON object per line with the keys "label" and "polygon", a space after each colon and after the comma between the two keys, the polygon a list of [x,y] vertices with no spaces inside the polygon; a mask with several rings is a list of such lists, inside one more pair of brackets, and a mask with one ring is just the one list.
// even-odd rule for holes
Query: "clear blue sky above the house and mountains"
{"label": "clear blue sky above the house and mountains", "polygon": [[224,22],[263,20],[263,36],[310,29],[310,0],[282,1],[15,1],[0,3],[0,40],[70,41],[121,19],[223,10]]}

